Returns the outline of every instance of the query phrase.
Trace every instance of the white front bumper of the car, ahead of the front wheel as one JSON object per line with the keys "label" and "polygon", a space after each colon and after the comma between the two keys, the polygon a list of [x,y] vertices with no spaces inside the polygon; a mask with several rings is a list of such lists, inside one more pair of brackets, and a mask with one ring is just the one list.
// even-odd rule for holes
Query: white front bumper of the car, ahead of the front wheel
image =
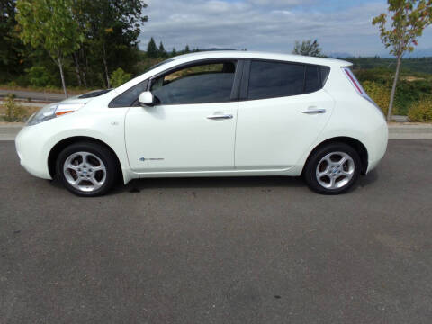
{"label": "white front bumper of the car, ahead of the front wheel", "polygon": [[42,179],[52,179],[49,175],[48,155],[38,125],[24,127],[16,136],[15,148],[20,164],[31,175]]}

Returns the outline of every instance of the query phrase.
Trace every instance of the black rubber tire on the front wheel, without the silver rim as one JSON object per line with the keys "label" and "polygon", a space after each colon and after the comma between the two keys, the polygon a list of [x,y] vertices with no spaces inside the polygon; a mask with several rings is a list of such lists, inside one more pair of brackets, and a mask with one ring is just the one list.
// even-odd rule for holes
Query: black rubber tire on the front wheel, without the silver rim
{"label": "black rubber tire on the front wheel, without the silver rim", "polygon": [[[79,176],[79,175],[77,175],[77,172],[74,170],[68,171],[67,175],[65,175],[65,172],[64,172],[64,165],[65,165],[65,162],[67,161],[67,158],[73,156],[74,154],[76,154],[78,152],[88,152],[91,155],[93,155],[93,157],[90,156],[91,158],[94,158],[94,156],[95,156],[103,162],[103,165],[105,168],[103,182],[101,181],[101,183],[103,183],[103,184],[100,187],[98,187],[97,189],[95,188],[93,191],[78,190],[76,187],[74,187],[72,184],[69,184],[69,182],[67,181],[67,176],[69,176],[69,178],[70,178],[71,173],[75,172],[73,174],[74,178],[75,178],[75,176]],[[95,160],[95,161],[97,161],[97,160]],[[82,171],[82,170],[80,170],[80,171]],[[98,171],[96,171],[96,172],[98,172]],[[103,173],[103,171],[99,171],[99,172]],[[58,177],[58,180],[67,188],[68,191],[70,191],[71,193],[75,193],[78,196],[95,197],[95,196],[100,196],[100,195],[103,195],[105,193],[108,193],[112,189],[114,184],[116,184],[116,181],[117,181],[119,175],[120,175],[120,168],[119,168],[118,163],[117,163],[117,158],[112,153],[112,151],[109,148],[105,148],[102,145],[98,145],[98,144],[93,143],[93,142],[83,141],[83,142],[77,142],[77,143],[71,144],[67,148],[64,148],[58,154],[58,157],[57,157],[56,176]],[[81,175],[81,176],[85,176],[85,175]],[[83,183],[85,184],[86,179],[84,178],[83,180],[84,180]],[[84,186],[85,185],[83,185],[83,187]]]}

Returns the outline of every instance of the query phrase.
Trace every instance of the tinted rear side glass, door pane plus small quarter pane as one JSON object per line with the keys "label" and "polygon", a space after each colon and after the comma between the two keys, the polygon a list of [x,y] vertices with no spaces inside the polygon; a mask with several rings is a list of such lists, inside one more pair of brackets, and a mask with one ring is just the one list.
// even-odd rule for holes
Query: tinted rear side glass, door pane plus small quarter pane
{"label": "tinted rear side glass, door pane plus small quarter pane", "polygon": [[252,61],[247,98],[257,100],[310,94],[323,87],[329,71],[329,67]]}

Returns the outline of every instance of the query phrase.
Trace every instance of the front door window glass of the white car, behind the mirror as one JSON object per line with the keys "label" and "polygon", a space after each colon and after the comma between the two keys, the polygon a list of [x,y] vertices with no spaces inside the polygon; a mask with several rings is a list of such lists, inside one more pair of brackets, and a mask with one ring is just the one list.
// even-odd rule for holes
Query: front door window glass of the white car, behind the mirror
{"label": "front door window glass of the white car, behind the mirror", "polygon": [[234,61],[184,67],[152,80],[150,90],[161,104],[225,103],[235,72]]}

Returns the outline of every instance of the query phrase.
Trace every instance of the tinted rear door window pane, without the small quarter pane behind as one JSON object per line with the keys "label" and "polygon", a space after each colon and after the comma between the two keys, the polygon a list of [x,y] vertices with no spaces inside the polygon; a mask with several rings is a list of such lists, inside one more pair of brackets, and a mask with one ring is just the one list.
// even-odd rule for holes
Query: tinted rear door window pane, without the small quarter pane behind
{"label": "tinted rear door window pane, without the small quarter pane behind", "polygon": [[302,94],[304,66],[274,62],[252,61],[250,66],[249,100]]}

